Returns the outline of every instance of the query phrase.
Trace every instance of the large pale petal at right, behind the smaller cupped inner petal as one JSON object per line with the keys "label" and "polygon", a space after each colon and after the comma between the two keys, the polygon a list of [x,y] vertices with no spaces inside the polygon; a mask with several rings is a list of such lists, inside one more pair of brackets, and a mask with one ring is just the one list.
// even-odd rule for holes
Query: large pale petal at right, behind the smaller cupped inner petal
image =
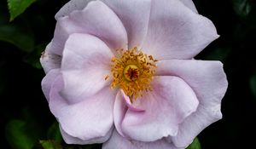
{"label": "large pale petal at right, behind the smaller cupped inner petal", "polygon": [[183,78],[200,102],[198,110],[181,123],[177,136],[172,137],[176,146],[187,146],[202,129],[222,117],[220,104],[228,83],[221,62],[162,60],[156,75]]}

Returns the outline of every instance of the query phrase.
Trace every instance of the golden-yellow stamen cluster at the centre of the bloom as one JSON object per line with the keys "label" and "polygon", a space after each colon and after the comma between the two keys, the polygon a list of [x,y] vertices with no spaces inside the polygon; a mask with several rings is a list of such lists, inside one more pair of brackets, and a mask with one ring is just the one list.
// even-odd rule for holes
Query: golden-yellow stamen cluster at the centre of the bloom
{"label": "golden-yellow stamen cluster at the centre of the bloom", "polygon": [[111,89],[123,89],[131,102],[143,96],[143,92],[152,90],[150,83],[154,78],[156,62],[152,55],[143,54],[137,47],[117,50],[111,65]]}

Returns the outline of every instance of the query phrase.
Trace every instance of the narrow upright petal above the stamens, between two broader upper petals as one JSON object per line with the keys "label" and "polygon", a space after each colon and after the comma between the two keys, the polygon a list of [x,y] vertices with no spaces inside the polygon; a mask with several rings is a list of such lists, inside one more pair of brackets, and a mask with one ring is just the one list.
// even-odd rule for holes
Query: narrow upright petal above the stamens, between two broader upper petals
{"label": "narrow upright petal above the stamens, between two broader upper petals", "polygon": [[123,22],[129,41],[129,49],[140,47],[148,31],[151,0],[102,0],[113,9]]}

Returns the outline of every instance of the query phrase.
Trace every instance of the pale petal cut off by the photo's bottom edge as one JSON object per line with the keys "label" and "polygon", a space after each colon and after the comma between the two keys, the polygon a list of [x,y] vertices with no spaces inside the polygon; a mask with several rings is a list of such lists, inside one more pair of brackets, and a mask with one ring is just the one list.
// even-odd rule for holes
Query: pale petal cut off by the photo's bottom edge
{"label": "pale petal cut off by the photo's bottom edge", "polygon": [[111,138],[103,143],[102,149],[178,149],[166,140],[155,140],[152,142],[142,142],[137,140],[127,140],[114,130]]}

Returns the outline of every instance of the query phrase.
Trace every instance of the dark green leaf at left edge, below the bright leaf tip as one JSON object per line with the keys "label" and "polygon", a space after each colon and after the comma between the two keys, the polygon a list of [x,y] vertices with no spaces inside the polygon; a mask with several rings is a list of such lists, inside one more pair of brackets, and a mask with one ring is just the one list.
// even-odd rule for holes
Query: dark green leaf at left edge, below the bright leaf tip
{"label": "dark green leaf at left edge, below the bright leaf tip", "polygon": [[0,41],[12,43],[25,52],[32,52],[34,48],[33,33],[21,26],[0,26]]}

